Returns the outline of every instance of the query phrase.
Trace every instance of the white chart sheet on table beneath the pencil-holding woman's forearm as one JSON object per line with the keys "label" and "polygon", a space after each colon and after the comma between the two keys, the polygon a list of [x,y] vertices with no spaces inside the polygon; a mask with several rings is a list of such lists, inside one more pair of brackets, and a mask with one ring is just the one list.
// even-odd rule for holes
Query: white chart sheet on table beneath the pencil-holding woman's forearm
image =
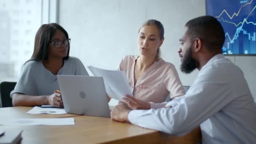
{"label": "white chart sheet on table beneath the pencil-holding woman's forearm", "polygon": [[41,108],[34,107],[27,114],[67,114],[64,108]]}

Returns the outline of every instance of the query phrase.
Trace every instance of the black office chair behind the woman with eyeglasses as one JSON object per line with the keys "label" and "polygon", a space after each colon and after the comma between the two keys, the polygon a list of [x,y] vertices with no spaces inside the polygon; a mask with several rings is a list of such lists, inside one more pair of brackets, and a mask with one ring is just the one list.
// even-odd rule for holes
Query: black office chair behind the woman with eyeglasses
{"label": "black office chair behind the woman with eyeglasses", "polygon": [[14,89],[16,82],[2,82],[0,83],[0,106],[13,107],[12,99],[10,97],[11,91]]}

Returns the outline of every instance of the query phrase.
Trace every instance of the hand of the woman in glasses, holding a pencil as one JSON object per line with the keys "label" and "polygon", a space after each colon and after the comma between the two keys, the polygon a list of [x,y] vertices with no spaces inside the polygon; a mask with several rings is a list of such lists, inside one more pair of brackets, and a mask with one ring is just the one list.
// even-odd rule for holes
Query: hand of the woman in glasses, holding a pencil
{"label": "hand of the woman in glasses, holding a pencil", "polygon": [[60,91],[56,90],[54,93],[50,96],[47,96],[48,104],[54,106],[54,107],[63,107],[63,101],[61,98]]}

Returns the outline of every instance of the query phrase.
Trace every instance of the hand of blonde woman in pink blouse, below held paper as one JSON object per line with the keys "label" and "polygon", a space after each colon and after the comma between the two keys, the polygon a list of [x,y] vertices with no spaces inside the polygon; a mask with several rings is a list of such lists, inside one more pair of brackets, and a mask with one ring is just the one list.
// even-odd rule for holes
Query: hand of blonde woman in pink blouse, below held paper
{"label": "hand of blonde woman in pink blouse, below held paper", "polygon": [[[128,106],[131,108],[131,109],[150,109],[150,104],[149,102],[146,102],[146,101],[141,101],[139,99],[135,99],[134,97],[132,96],[129,96],[129,95],[125,95],[127,98],[122,98],[126,104],[128,104]],[[131,100],[133,101],[131,101]]]}

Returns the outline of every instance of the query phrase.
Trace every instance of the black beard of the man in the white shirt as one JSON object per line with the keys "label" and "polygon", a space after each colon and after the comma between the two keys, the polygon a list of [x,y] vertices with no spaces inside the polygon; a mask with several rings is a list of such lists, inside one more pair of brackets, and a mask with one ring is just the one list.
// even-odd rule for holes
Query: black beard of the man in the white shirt
{"label": "black beard of the man in the white shirt", "polygon": [[187,53],[183,56],[181,61],[181,72],[189,74],[199,66],[199,61],[192,58],[192,47],[189,48]]}

